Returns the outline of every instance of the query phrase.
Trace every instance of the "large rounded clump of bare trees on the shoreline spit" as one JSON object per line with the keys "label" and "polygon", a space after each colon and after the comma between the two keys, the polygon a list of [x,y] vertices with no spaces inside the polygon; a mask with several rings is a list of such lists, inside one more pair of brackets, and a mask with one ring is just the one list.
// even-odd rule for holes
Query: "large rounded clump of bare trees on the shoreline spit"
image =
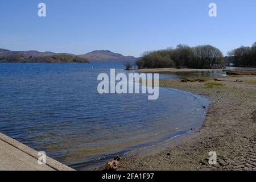
{"label": "large rounded clump of bare trees on the shoreline spit", "polygon": [[213,46],[189,47],[178,45],[160,51],[143,53],[141,59],[135,62],[141,68],[221,68],[223,55]]}

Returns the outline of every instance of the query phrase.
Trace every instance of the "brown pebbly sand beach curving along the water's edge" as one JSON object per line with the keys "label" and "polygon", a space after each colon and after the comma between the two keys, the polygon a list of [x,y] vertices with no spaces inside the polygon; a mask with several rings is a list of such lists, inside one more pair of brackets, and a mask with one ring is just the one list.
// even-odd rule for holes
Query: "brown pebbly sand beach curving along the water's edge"
{"label": "brown pebbly sand beach curving along the water's edge", "polygon": [[[166,148],[127,156],[122,159],[119,170],[255,170],[256,76],[229,76],[218,80],[160,80],[160,86],[209,98],[212,104],[207,117],[195,134]],[[210,151],[217,152],[216,166],[208,163]]]}

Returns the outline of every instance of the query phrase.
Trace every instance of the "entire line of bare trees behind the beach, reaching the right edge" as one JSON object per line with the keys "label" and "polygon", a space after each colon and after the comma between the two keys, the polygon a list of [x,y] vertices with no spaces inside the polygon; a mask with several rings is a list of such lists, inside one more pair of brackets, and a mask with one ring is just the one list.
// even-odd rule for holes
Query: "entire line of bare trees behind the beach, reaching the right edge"
{"label": "entire line of bare trees behind the beach, reaching the right edge", "polygon": [[189,47],[178,45],[159,51],[144,52],[142,57],[135,62],[138,69],[142,68],[196,68],[217,69],[229,63],[236,66],[255,66],[256,43],[252,47],[241,47],[229,52],[229,57],[224,57],[220,49],[205,45]]}

